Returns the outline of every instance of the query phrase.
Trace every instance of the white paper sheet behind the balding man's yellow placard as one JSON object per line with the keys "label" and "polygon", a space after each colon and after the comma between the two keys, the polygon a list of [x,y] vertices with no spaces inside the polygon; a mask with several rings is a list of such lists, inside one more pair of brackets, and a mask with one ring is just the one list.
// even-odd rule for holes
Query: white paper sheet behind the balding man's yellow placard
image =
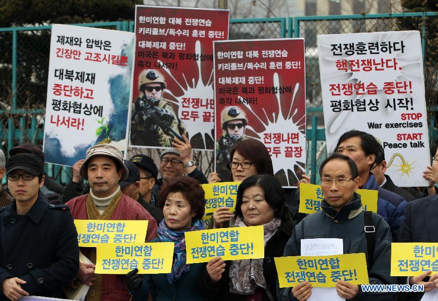
{"label": "white paper sheet behind the balding man's yellow placard", "polygon": [[[301,240],[301,256],[328,256],[344,254],[340,238],[313,238]],[[345,301],[335,287],[312,287],[309,301]]]}

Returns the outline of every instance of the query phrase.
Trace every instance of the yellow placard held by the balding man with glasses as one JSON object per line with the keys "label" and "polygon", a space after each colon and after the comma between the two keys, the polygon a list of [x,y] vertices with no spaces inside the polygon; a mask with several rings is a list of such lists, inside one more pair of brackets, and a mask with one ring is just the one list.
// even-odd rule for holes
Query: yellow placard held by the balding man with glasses
{"label": "yellow placard held by the balding man with glasses", "polygon": [[354,284],[369,283],[365,253],[288,256],[274,260],[280,287],[293,287],[304,281],[314,287],[334,287],[338,280]]}

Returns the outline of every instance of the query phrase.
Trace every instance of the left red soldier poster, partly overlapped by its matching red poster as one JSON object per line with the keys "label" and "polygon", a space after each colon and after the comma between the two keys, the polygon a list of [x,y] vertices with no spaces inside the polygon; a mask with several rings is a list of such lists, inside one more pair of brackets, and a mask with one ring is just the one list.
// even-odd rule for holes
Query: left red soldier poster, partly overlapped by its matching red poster
{"label": "left red soldier poster, partly overlapped by its matching red poster", "polygon": [[130,145],[170,147],[185,134],[193,149],[214,148],[212,42],[228,38],[229,19],[229,10],[136,6]]}

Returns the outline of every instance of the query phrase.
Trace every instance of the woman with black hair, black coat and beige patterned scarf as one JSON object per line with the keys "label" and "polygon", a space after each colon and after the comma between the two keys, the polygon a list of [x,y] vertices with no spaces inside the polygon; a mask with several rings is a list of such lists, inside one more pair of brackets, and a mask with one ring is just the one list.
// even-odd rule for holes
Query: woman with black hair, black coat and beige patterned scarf
{"label": "woman with black hair, black coat and beige patterned scarf", "polygon": [[202,291],[209,300],[277,300],[274,257],[283,256],[293,229],[280,183],[271,175],[246,178],[237,191],[235,216],[235,227],[263,226],[265,258],[210,260],[202,278]]}

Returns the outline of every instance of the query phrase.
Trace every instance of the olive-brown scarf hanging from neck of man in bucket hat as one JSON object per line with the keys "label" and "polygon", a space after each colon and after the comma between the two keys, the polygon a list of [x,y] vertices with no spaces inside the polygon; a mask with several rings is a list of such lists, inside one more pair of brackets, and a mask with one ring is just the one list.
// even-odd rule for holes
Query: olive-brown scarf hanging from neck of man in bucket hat
{"label": "olive-brown scarf hanging from neck of man in bucket hat", "polygon": [[[114,213],[117,205],[119,204],[120,199],[122,198],[122,192],[119,192],[114,196],[111,200],[110,205],[108,205],[107,209],[102,212],[102,215],[97,210],[96,204],[91,197],[91,194],[87,196],[87,215],[88,219],[106,219],[109,220]],[[96,248],[91,248],[91,256],[90,260],[93,264],[96,264]],[[100,301],[102,294],[102,274],[95,274],[96,280],[93,282],[93,286],[90,287],[88,291],[87,301]]]}

